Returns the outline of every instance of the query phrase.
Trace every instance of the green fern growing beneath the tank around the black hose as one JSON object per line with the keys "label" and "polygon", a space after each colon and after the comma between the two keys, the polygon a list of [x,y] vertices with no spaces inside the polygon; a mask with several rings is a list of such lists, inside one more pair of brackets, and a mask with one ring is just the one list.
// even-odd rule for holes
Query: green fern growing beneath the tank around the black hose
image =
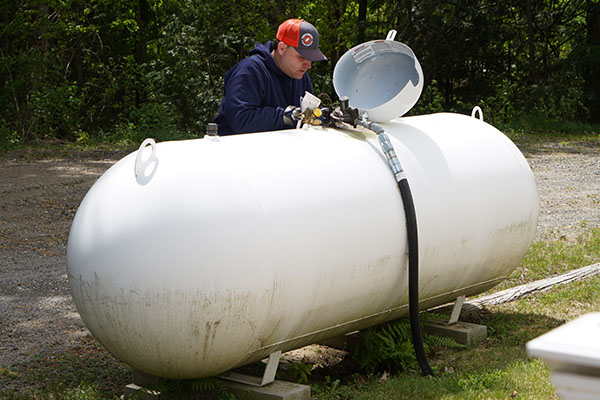
{"label": "green fern growing beneath the tank around the black hose", "polygon": [[[434,347],[463,348],[449,338],[423,335],[426,353]],[[407,319],[399,319],[367,329],[358,349],[353,353],[362,370],[412,371],[416,365],[414,347]]]}

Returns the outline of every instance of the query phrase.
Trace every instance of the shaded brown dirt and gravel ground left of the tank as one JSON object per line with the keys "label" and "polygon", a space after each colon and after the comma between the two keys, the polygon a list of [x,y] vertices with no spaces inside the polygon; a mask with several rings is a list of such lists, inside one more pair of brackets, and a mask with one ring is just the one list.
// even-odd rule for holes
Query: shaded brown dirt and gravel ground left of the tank
{"label": "shaded brown dirt and gravel ground left of the tank", "polygon": [[83,196],[119,156],[0,160],[0,365],[88,334],[69,291],[66,245]]}

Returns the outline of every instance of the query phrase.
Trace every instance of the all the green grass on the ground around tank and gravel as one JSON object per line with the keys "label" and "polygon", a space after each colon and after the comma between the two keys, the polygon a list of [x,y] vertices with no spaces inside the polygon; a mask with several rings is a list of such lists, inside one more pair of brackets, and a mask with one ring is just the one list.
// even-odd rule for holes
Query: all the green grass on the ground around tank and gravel
{"label": "all the green grass on the ground around tank and gravel", "polygon": [[[579,137],[557,135],[517,140],[531,151],[545,151],[548,142],[565,146],[575,143],[582,148],[600,144],[597,131]],[[41,150],[17,149],[21,153],[16,158],[60,156],[62,153],[56,151],[64,151],[61,146],[49,143]],[[73,151],[105,150],[80,146],[68,149],[69,156]],[[600,262],[600,228],[582,226],[582,231],[576,240],[557,232],[534,243],[522,266],[494,291]],[[434,349],[430,355],[434,377],[421,376],[416,365],[394,374],[382,370],[336,372],[336,366],[327,371],[309,371],[301,365],[296,375],[311,385],[313,398],[323,400],[558,399],[548,368],[526,355],[525,344],[580,315],[598,311],[600,277],[595,276],[489,307],[475,321],[488,327],[488,339],[466,349]],[[131,381],[131,370],[88,337],[81,346],[63,354],[32,357],[16,366],[0,365],[0,399],[114,399]]]}

